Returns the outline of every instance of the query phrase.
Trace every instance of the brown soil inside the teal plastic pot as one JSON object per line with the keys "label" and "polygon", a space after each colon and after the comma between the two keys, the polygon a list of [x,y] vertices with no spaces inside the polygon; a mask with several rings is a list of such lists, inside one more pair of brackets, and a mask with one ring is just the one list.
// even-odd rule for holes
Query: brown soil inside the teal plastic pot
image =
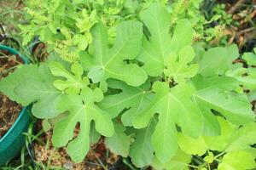
{"label": "brown soil inside the teal plastic pot", "polygon": [[[0,51],[0,80],[7,77],[10,72],[15,70],[15,66],[22,64],[22,62],[20,57],[11,55],[6,51]],[[21,109],[21,105],[0,93],[0,139],[15,123]]]}

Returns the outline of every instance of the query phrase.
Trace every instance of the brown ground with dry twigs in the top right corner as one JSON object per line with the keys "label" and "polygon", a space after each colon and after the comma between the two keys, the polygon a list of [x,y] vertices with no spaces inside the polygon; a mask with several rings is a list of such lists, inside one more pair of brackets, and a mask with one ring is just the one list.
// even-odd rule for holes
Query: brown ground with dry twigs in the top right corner
{"label": "brown ground with dry twigs in the top right corner", "polygon": [[[256,0],[218,0],[218,3],[225,5],[233,20],[224,30],[228,44],[236,43],[241,53],[253,51],[256,47]],[[212,42],[219,43],[218,39]]]}

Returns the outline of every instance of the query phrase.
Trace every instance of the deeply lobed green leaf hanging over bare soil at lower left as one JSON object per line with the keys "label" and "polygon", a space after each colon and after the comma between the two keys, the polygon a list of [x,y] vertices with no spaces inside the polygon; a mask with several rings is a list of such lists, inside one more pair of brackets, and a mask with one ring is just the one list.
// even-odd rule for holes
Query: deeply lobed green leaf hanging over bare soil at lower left
{"label": "deeply lobed green leaf hanging over bare soil at lower left", "polygon": [[[60,112],[68,111],[68,113],[64,119],[55,124],[52,141],[56,147],[68,143],[67,153],[75,162],[83,161],[89,150],[91,121],[95,122],[97,132],[108,137],[113,135],[111,117],[95,104],[102,98],[103,94],[99,88],[92,91],[86,87],[82,89],[80,95],[69,94],[61,98],[58,105]],[[73,139],[73,130],[78,123],[79,135]]]}

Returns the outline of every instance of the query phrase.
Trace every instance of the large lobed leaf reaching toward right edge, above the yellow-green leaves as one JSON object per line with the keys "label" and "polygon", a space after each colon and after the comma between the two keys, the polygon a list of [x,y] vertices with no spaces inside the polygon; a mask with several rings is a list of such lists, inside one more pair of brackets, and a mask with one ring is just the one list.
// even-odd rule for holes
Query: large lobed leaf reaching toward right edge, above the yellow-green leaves
{"label": "large lobed leaf reaching toward right edge, above the yellow-green leaves", "polygon": [[239,87],[232,77],[195,77],[197,91],[193,98],[204,115],[204,134],[216,135],[220,128],[212,110],[225,116],[230,122],[243,125],[253,122],[254,116],[247,96],[231,90]]}

